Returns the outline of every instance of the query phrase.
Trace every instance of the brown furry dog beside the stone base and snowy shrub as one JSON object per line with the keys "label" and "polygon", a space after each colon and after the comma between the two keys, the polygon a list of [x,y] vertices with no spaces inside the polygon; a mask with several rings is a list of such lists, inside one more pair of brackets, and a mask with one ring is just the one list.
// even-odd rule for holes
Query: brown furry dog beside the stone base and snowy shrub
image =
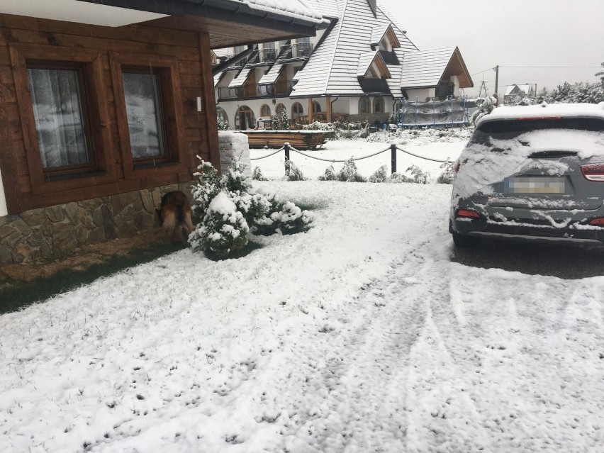
{"label": "brown furry dog beside the stone base and snowy shrub", "polygon": [[191,205],[186,195],[181,191],[168,192],[162,196],[160,208],[155,208],[160,225],[164,228],[167,238],[185,242],[193,231],[191,221]]}

